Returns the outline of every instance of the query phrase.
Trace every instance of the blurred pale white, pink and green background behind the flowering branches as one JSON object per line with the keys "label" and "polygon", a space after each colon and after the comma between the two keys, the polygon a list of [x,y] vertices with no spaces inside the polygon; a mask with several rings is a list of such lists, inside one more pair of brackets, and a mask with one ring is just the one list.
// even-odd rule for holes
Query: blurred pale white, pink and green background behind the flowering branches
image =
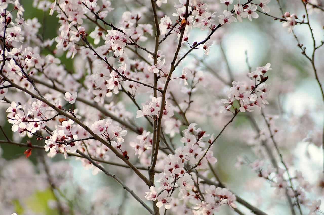
{"label": "blurred pale white, pink and green background behind the flowering branches", "polygon": [[[20,2],[25,8],[25,20],[36,17],[40,23],[43,23],[42,32],[39,32],[42,37],[44,39],[55,38],[59,28],[57,17],[55,17],[56,14],[54,13],[53,16],[50,16],[48,10],[44,12],[37,8],[42,1],[20,0]],[[168,4],[163,4],[162,10],[158,11],[159,17],[163,17],[165,12],[171,17],[174,12],[173,5],[175,2],[168,0]],[[212,12],[217,11],[216,16],[221,15],[224,10],[223,4],[220,4],[218,0],[216,2],[206,0],[205,2],[209,5],[208,10]],[[321,3],[319,0],[317,2]],[[136,11],[143,14],[143,20],[141,21],[153,25],[150,8],[146,7],[146,5],[149,5],[149,1],[111,1],[111,3],[111,6],[115,9],[106,18],[107,22],[119,23],[121,14],[124,11],[132,11],[136,8]],[[282,0],[281,4],[284,11],[289,11],[291,14],[295,13],[297,17],[302,17],[305,14],[303,4],[300,1]],[[272,0],[269,6],[272,16],[281,17],[275,0]],[[323,14],[323,11],[316,9],[312,9],[310,13],[310,22],[318,44],[324,40]],[[275,125],[279,131],[276,134],[276,138],[280,142],[284,160],[294,166],[294,169],[292,168],[291,171],[293,172],[295,169],[302,171],[305,179],[313,186],[312,195],[323,200],[324,186],[322,185],[323,187],[321,187],[319,184],[323,180],[321,174],[323,153],[321,143],[318,142],[321,141],[320,132],[323,132],[321,128],[324,121],[324,109],[318,84],[310,63],[301,54],[293,35],[289,34],[287,29],[282,27],[280,21],[274,21],[273,18],[263,16],[260,13],[259,16],[258,19],[253,19],[252,22],[244,19],[243,23],[232,23],[221,28],[219,32],[215,33],[213,38],[214,44],[209,56],[203,55],[203,51],[195,51],[195,55],[189,55],[183,61],[181,67],[177,69],[176,73],[181,74],[183,66],[199,67],[199,70],[212,68],[217,74],[228,80],[226,70],[230,69],[234,74],[235,80],[239,81],[246,79],[247,73],[249,73],[246,63],[247,59],[252,67],[252,71],[256,67],[263,66],[268,62],[271,63],[272,70],[267,73],[269,76],[269,81],[267,82],[272,85],[270,98],[268,98],[270,105],[265,108],[265,114],[278,116]],[[215,20],[217,20],[217,17]],[[116,25],[118,26],[118,24]],[[90,22],[85,23],[84,26],[86,29],[94,29],[94,25]],[[312,52],[312,40],[308,26],[297,25],[294,31],[298,39],[307,47],[306,53],[310,55]],[[206,32],[200,29],[193,29],[190,40],[201,41],[205,37]],[[93,42],[91,38],[88,39],[90,42]],[[166,41],[165,47],[161,48],[166,55],[170,53],[173,56],[173,52],[168,52],[168,46],[173,44],[172,40]],[[143,44],[145,47],[154,47],[153,42],[154,40],[150,39]],[[55,49],[55,45],[56,43],[54,42],[52,49]],[[43,52],[42,54],[44,55],[50,53],[46,50]],[[315,57],[319,79],[322,82],[324,82],[323,53],[324,48],[320,48]],[[180,51],[181,54],[183,52]],[[57,53],[56,56],[60,58],[67,70],[75,70],[76,66],[73,64],[73,60],[66,59],[65,54]],[[225,59],[228,62],[229,68],[227,68]],[[214,90],[215,97],[224,97],[226,95],[226,87],[220,88],[218,85],[219,83],[214,83],[214,86],[209,84],[208,91]],[[219,90],[222,90],[222,92]],[[194,99],[203,102],[206,98],[201,95],[203,95],[203,91]],[[122,100],[123,96],[120,96],[119,99]],[[145,102],[147,97],[138,99],[141,102]],[[208,99],[216,100],[213,97]],[[135,116],[136,107],[133,107],[129,101],[125,104],[126,109]],[[202,106],[204,105],[201,105],[201,107],[197,105],[197,111],[188,112],[188,119],[191,122],[197,123],[207,133],[217,134],[228,118],[224,117],[224,114],[217,113],[217,110]],[[2,113],[0,125],[11,139],[24,143],[27,142],[28,138],[20,139],[17,135],[13,135],[11,125],[6,120],[5,110],[7,107],[9,107],[8,104],[0,103]],[[199,118],[200,113],[198,111],[210,111],[210,117],[207,120]],[[265,130],[266,125],[262,121],[260,112],[253,114],[260,129]],[[140,120],[136,122],[141,123]],[[239,116],[225,130],[220,140],[213,147],[214,156],[218,160],[214,169],[218,172],[223,183],[252,205],[260,207],[265,212],[268,212],[269,215],[288,214],[289,208],[284,195],[276,195],[271,184],[257,177],[255,172],[250,171],[249,166],[242,166],[240,169],[234,167],[237,162],[237,156],[248,158],[251,162],[257,158],[262,158],[260,156],[262,154],[260,153],[261,146],[260,144],[255,144],[256,136],[258,135],[252,129],[248,119],[243,115]],[[303,141],[309,136],[314,137],[312,141]],[[136,137],[134,134],[127,135],[125,142],[134,137]],[[178,134],[173,141],[178,142],[180,145],[180,138],[181,136]],[[3,133],[0,133],[0,140],[6,140]],[[43,145],[40,141],[36,141],[35,137],[31,139],[31,142]],[[0,144],[0,148],[2,154],[0,158],[1,199],[14,199],[4,201],[2,204],[0,203],[1,214],[16,212],[18,215],[59,215],[60,210],[57,208],[56,203],[57,196],[59,196],[60,201],[64,202],[65,207],[75,209],[75,215],[146,213],[146,211],[143,212],[143,209],[137,202],[131,199],[132,197],[124,193],[115,181],[110,180],[110,178],[102,173],[92,175],[91,171],[82,167],[81,162],[75,160],[75,158],[65,160],[63,156],[57,155],[55,158],[50,159],[44,156],[45,152],[41,150],[33,150],[31,156],[26,158],[24,154],[26,148],[24,147]],[[264,158],[267,159],[266,157]],[[51,179],[45,174],[46,166],[43,165],[44,162],[51,166],[51,169],[48,171],[55,176],[53,177],[54,182],[50,181]],[[133,162],[136,162],[136,156]],[[136,187],[136,176],[132,175],[128,169],[116,171],[116,173],[132,189],[139,189]],[[53,189],[50,184],[55,184],[55,188],[59,187],[59,191]],[[15,192],[6,192],[8,189],[15,190]],[[9,198],[6,195],[14,196]],[[142,197],[144,197],[144,194]],[[106,199],[109,199],[109,201],[106,201]],[[95,211],[91,208],[94,204],[104,205],[108,210]],[[274,205],[275,207],[273,207]],[[250,214],[248,210],[240,209],[246,214]],[[235,214],[235,212],[224,210],[220,211],[219,214]]]}

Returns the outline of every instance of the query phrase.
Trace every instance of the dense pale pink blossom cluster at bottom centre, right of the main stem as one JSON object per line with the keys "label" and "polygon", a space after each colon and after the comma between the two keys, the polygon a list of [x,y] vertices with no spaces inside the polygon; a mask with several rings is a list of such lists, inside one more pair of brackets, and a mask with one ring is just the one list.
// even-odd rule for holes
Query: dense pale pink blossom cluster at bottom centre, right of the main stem
{"label": "dense pale pink blossom cluster at bottom centre, right of the main stem", "polygon": [[[228,204],[231,208],[236,208],[236,197],[227,188],[214,185],[199,187],[198,182],[201,180],[199,176],[188,173],[189,165],[197,164],[196,169],[203,170],[207,168],[208,164],[217,162],[212,151],[208,151],[206,154],[203,151],[205,143],[211,144],[214,135],[207,139],[210,135],[201,128],[196,128],[196,125],[192,123],[183,130],[184,137],[180,141],[184,146],[177,148],[175,154],[169,154],[163,159],[161,165],[164,166],[164,170],[156,181],[160,186],[157,188],[151,186],[150,191],[145,193],[145,198],[157,200],[158,208],[171,209],[173,205],[176,205],[173,204],[174,199],[171,195],[178,188],[179,200],[194,205],[195,214],[212,214],[214,211],[218,211],[223,203]],[[172,209],[176,211],[177,207]]]}

